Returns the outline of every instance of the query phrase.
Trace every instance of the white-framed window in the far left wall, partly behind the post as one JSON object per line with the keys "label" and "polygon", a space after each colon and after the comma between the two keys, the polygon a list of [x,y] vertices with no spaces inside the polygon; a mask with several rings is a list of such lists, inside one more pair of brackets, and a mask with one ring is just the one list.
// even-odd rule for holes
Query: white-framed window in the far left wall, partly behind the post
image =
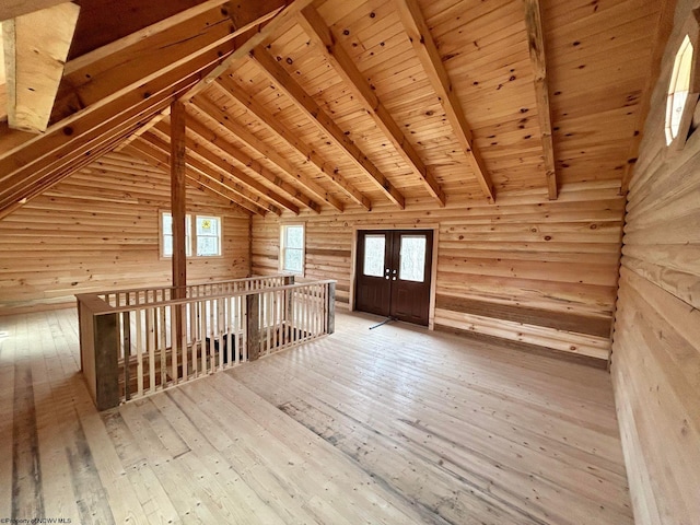
{"label": "white-framed window in the far left wall, partly behind the post", "polygon": [[[194,244],[197,248],[197,257],[220,256],[222,237],[221,218],[214,215],[194,217],[196,228],[192,232],[192,215],[189,213],[185,215],[185,254],[187,257],[192,256]],[[161,212],[161,257],[173,257],[173,215],[168,211]]]}

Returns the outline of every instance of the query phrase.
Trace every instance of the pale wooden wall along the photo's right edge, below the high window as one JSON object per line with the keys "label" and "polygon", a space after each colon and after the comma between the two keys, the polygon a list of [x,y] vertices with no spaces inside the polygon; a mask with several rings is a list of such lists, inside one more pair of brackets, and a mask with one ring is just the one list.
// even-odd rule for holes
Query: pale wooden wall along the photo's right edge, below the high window
{"label": "pale wooden wall along the photo's right edge, below the high window", "polygon": [[640,525],[700,516],[700,133],[680,152],[664,137],[674,57],[698,4],[678,1],[625,228],[611,370]]}

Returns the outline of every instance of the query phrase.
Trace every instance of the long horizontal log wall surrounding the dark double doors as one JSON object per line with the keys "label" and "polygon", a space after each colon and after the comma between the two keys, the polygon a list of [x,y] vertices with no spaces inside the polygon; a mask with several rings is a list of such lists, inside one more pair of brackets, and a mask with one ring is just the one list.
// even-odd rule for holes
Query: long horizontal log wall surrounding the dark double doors
{"label": "long horizontal log wall surrounding the dark double doors", "polygon": [[[500,196],[497,206],[411,202],[406,211],[303,215],[306,277],[351,293],[353,230],[438,228],[438,329],[499,337],[530,349],[609,355],[623,200],[608,183],[570,185],[561,198]],[[294,221],[290,219],[290,221]],[[253,270],[278,271],[279,222],[253,221]]]}

